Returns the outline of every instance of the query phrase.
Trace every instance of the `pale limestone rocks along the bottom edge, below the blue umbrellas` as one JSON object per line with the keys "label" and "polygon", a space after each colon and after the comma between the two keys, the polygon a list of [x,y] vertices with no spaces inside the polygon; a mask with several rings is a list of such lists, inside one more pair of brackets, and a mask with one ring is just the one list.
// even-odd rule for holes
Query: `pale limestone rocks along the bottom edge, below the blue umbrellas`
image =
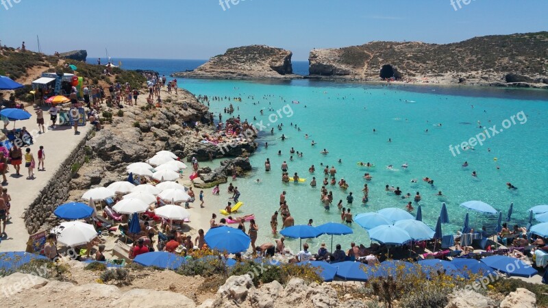
{"label": "pale limestone rocks along the bottom edge, below the blue umbrellas", "polygon": [[[77,261],[71,261],[78,264]],[[79,266],[82,268],[82,266]],[[79,270],[79,275],[86,275],[86,270]],[[164,272],[165,274],[166,272]],[[169,273],[169,272],[168,272]],[[356,292],[356,287],[349,283],[317,283],[306,284],[303,279],[291,279],[286,285],[277,281],[255,287],[249,274],[232,276],[215,292],[207,292],[208,298],[199,299],[190,290],[177,292],[175,284],[178,274],[171,272],[164,277],[164,281],[156,281],[162,272],[142,270],[140,281],[134,284],[146,283],[150,277],[148,288],[117,287],[108,283],[85,281],[73,270],[73,279],[45,279],[32,274],[16,272],[0,279],[0,290],[5,307],[184,307],[184,308],[367,308],[383,307],[378,298],[364,298]],[[175,276],[173,276],[175,275]],[[187,277],[188,278],[188,277]],[[75,281],[79,279],[80,281]],[[67,281],[69,280],[69,281]],[[191,281],[203,281],[201,277],[186,279],[184,284]],[[183,282],[181,282],[183,283]],[[164,290],[169,286],[170,290]],[[200,292],[194,287],[188,287]],[[203,290],[201,290],[203,291]],[[184,295],[188,294],[192,298]],[[373,296],[375,297],[375,296]],[[399,307],[397,301],[393,307]],[[465,291],[454,296],[449,294],[449,304],[446,308],[534,308],[535,295],[523,288],[508,294],[499,303],[495,300]]]}

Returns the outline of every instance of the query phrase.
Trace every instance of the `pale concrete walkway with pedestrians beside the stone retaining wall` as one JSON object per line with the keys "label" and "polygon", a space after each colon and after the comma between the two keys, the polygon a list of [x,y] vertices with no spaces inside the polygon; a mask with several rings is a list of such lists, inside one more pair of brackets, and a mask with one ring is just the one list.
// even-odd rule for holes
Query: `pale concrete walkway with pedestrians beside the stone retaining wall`
{"label": "pale concrete walkway with pedestrians beside the stone retaining wall", "polygon": [[[51,130],[48,127],[48,125],[51,124],[51,120],[49,120],[49,113],[47,113],[47,108],[45,107],[42,108],[42,110],[44,110],[46,132],[38,134],[36,113],[32,107],[26,107],[25,109],[32,114],[32,117],[29,118],[29,120],[16,121],[15,127],[27,127],[27,131],[34,136],[34,144],[29,146],[29,148],[34,155],[34,159],[36,159],[37,167],[38,149],[40,146],[44,146],[46,170],[38,171],[38,169],[35,168],[34,176],[36,179],[27,180],[28,172],[27,168],[25,168],[25,159],[23,159],[21,176],[17,177],[15,175],[15,168],[13,166],[10,166],[9,172],[6,172],[5,176],[8,179],[8,184],[3,187],[8,188],[8,194],[12,197],[10,210],[12,219],[5,228],[5,233],[8,236],[6,237],[4,235],[3,238],[1,238],[0,252],[25,251],[27,248],[27,241],[29,240],[29,233],[27,232],[25,221],[23,220],[25,209],[34,202],[38,197],[40,190],[45,187],[46,183],[53,177],[55,172],[57,172],[60,164],[69,157],[69,154],[72,153],[78,142],[86,138],[86,134],[92,129],[92,126],[89,124],[85,127],[78,127],[78,130],[81,132],[79,135],[75,135],[73,127],[68,126],[58,126]],[[66,110],[67,108],[64,109]],[[10,122],[8,129],[12,129],[14,127],[13,125],[14,123]],[[23,154],[25,154],[26,149],[27,147],[22,148]]]}

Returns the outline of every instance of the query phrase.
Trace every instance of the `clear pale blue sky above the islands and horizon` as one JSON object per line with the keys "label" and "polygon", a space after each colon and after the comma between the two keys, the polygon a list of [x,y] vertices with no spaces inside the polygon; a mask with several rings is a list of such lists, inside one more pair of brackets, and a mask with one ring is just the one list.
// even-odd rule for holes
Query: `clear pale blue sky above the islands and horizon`
{"label": "clear pale blue sky above the islands and horizon", "polygon": [[45,53],[86,49],[94,57],[107,48],[112,57],[166,59],[267,44],[307,60],[313,48],[371,40],[447,43],[548,30],[545,0],[460,0],[457,10],[451,0],[227,2],[223,10],[219,0],[0,0],[0,40],[38,50],[38,35]]}

